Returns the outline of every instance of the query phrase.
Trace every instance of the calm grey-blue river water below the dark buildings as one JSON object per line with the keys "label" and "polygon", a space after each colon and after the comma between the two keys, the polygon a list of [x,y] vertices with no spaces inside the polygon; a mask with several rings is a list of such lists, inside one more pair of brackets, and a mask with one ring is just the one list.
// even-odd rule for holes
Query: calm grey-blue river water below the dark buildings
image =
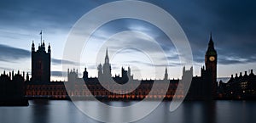
{"label": "calm grey-blue river water below the dark buildings", "polygon": [[[96,102],[90,102],[96,103]],[[127,102],[111,102],[126,105]],[[136,102],[132,102],[136,103]],[[150,102],[149,102],[150,103]],[[131,104],[131,102],[130,102]],[[255,123],[256,101],[185,102],[174,112],[163,102],[139,123]],[[93,109],[94,107],[91,107]],[[100,109],[98,109],[100,110]],[[109,112],[104,112],[109,115]],[[113,117],[112,117],[113,118]],[[28,107],[0,107],[0,123],[96,123],[70,101],[30,101]]]}

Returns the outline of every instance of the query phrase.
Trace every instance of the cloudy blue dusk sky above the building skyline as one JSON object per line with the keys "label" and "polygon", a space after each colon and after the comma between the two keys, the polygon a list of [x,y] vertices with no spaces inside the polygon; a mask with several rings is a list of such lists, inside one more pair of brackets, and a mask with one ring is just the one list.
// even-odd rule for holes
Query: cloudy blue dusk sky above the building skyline
{"label": "cloudy blue dusk sky above the building skyline", "polygon": [[[38,47],[40,31],[51,46],[51,80],[61,80],[61,60],[73,25],[91,9],[113,1],[102,0],[1,0],[0,1],[0,73],[3,70],[31,71],[32,41]],[[177,20],[189,39],[194,59],[194,75],[200,75],[212,32],[218,52],[218,77],[255,69],[256,2],[253,0],[147,0],[163,8]],[[131,10],[139,12],[139,8]],[[88,25],[93,25],[91,22]],[[122,32],[122,33],[120,33]],[[142,32],[142,33],[139,33]],[[109,40],[108,40],[109,39]],[[108,43],[106,41],[108,40]],[[156,42],[154,42],[156,41]],[[119,42],[119,43],[117,43]],[[166,53],[163,63],[154,43]],[[140,46],[143,51],[132,48]],[[127,46],[127,48],[122,48]],[[131,47],[129,47],[131,46]],[[36,47],[36,48],[37,48]],[[128,48],[129,47],[129,48]],[[137,78],[162,78],[165,67],[170,78],[180,78],[182,65],[177,49],[163,31],[143,20],[113,20],[98,28],[90,38],[80,61],[63,59],[70,68],[89,70],[96,76],[96,65],[103,63],[108,48],[113,75],[120,67],[131,66]],[[122,48],[119,52],[115,52]],[[97,55],[92,55],[96,53]],[[150,58],[152,57],[152,58]],[[158,59],[154,64],[152,59]],[[162,71],[152,73],[154,68]],[[154,75],[155,74],[155,75]]]}

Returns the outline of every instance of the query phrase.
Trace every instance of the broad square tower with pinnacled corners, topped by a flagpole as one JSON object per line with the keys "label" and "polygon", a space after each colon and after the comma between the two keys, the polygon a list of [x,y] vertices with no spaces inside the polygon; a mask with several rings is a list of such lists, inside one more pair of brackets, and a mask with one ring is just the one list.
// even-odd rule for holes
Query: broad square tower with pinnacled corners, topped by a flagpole
{"label": "broad square tower with pinnacled corners, topped by a flagpole", "polygon": [[32,42],[32,81],[50,81],[50,46],[46,52],[44,42],[38,45],[37,51]]}

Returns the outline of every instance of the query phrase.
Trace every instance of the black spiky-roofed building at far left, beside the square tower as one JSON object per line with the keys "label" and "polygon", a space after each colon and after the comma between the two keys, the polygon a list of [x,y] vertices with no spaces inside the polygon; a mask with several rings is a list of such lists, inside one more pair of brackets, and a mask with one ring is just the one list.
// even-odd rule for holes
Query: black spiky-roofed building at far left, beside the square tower
{"label": "black spiky-roofed building at far left, beside the square tower", "polygon": [[29,81],[28,73],[21,75],[18,70],[17,74],[14,71],[6,74],[4,70],[0,75],[0,105],[28,105],[25,81]]}

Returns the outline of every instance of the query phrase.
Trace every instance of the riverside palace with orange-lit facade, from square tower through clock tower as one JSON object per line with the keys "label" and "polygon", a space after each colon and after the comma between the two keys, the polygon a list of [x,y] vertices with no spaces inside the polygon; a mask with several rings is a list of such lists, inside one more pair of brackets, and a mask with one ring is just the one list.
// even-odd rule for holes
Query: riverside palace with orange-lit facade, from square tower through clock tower
{"label": "riverside palace with orange-lit facade, from square tower through clock tower", "polygon": [[[201,68],[201,76],[195,76],[192,78],[191,86],[187,99],[213,99],[216,97],[217,89],[217,52],[214,48],[212,41],[212,35],[208,43],[207,52],[205,55],[205,67]],[[98,77],[88,77],[88,71],[85,68],[83,77],[79,77],[78,70],[67,70],[67,81],[49,81],[50,79],[50,46],[48,52],[45,51],[44,42],[39,44],[38,51],[35,51],[34,43],[32,42],[32,79],[26,82],[26,97],[27,98],[69,98],[73,97],[89,97],[90,93],[95,98],[107,98],[107,99],[143,99],[143,98],[184,98],[184,88],[178,88],[180,84],[188,81],[179,79],[169,79],[167,69],[163,70],[162,80],[137,80],[131,75],[131,68],[121,68],[121,75],[111,74],[111,64],[108,58],[108,49],[106,49],[105,60],[103,64],[97,66]],[[193,73],[193,68],[185,70],[183,68],[183,76]],[[107,85],[114,92],[109,92],[108,89],[102,87],[103,84]],[[127,82],[131,82],[131,87],[121,87],[112,85],[113,82],[120,85],[124,85]],[[165,88],[165,82],[169,82],[169,87],[166,93],[162,88]],[[140,85],[132,92],[129,92],[129,88]],[[65,84],[69,87],[66,88]],[[84,84],[89,90],[84,90]],[[156,92],[152,92],[154,96],[148,96],[148,92],[152,89],[153,84],[157,84]],[[115,92],[121,92],[117,94]],[[122,94],[122,92],[124,94]],[[126,93],[129,92],[129,93]]]}

